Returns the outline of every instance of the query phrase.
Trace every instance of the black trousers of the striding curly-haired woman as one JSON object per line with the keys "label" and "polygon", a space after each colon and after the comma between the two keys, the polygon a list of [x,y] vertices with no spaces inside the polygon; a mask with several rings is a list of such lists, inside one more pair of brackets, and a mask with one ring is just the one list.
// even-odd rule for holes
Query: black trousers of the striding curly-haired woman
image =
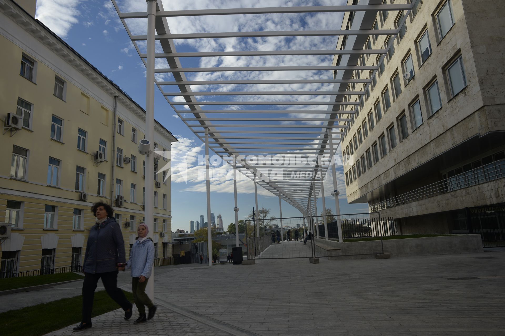
{"label": "black trousers of the striding curly-haired woman", "polygon": [[118,271],[107,273],[84,273],[84,282],[82,283],[82,321],[84,323],[91,323],[91,312],[93,311],[94,291],[98,279],[102,278],[107,294],[116,301],[123,310],[128,310],[132,304],[128,301],[123,291],[117,287],[118,284]]}

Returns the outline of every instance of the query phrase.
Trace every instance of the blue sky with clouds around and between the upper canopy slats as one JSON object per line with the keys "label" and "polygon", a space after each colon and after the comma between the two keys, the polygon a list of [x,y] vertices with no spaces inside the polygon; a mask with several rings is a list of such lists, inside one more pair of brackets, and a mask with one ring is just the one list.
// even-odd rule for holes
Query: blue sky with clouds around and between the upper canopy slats
{"label": "blue sky with clouds around and between the upper canopy slats", "polygon": [[[145,11],[143,0],[123,0],[118,1],[123,12]],[[180,2],[164,1],[165,9],[201,9],[216,8],[215,2],[199,1]],[[249,1],[223,0],[219,2],[222,8],[237,8],[250,6]],[[345,1],[342,1],[345,4]],[[295,0],[259,0],[255,2],[255,7],[272,6],[318,6],[336,5],[334,1],[295,1]],[[139,105],[145,107],[145,67],[143,66],[136,50],[133,48],[128,35],[119,21],[118,16],[109,1],[99,0],[38,0],[36,18],[62,37],[70,46],[79,52],[88,62],[103,72],[116,84],[118,84],[130,97]],[[320,14],[280,14],[262,16],[225,16],[225,17],[202,17],[202,18],[170,18],[168,20],[172,33],[187,32],[226,32],[226,31],[251,31],[251,30],[330,30],[340,29],[341,14],[320,13]],[[129,20],[128,25],[134,34],[143,34],[145,31],[145,20]],[[305,37],[305,38],[263,38],[263,39],[215,39],[207,40],[176,40],[177,51],[216,51],[216,50],[275,50],[280,48],[292,49],[332,49],[335,47],[337,37]],[[332,57],[264,57],[254,60],[247,58],[201,58],[201,59],[181,59],[184,67],[216,67],[216,66],[268,66],[279,65],[331,65]],[[161,66],[161,65],[159,65]],[[246,74],[251,78],[261,77],[265,74]],[[229,79],[242,79],[245,74],[227,73]],[[223,79],[219,73],[196,73],[187,74],[188,79]],[[259,77],[258,77],[259,76]],[[272,78],[275,74],[266,74]],[[290,74],[282,74],[284,78]],[[293,74],[294,76],[294,74]],[[331,72],[307,72],[306,78],[332,78]],[[165,75],[164,80],[171,80],[170,75]],[[309,87],[310,86],[310,87]],[[286,88],[275,87],[245,88],[245,87],[222,87],[222,91],[260,91],[260,90],[331,90],[327,84],[310,84],[309,86],[290,86]],[[170,91],[171,87],[165,87]],[[172,90],[176,90],[176,86]],[[193,87],[193,91],[210,91],[216,88]],[[236,97],[236,96],[235,96]],[[241,99],[241,98],[237,98]],[[263,100],[254,97],[243,98],[243,100]],[[275,99],[275,97],[273,98]],[[312,97],[314,100],[329,99],[328,95]],[[177,98],[171,98],[177,101]],[[211,100],[211,99],[209,99]],[[227,99],[222,99],[227,100]],[[180,101],[180,100],[179,100]],[[299,106],[298,106],[299,107]],[[296,107],[296,108],[298,108]],[[180,106],[182,109],[183,107]],[[217,107],[213,107],[217,108]],[[255,107],[256,108],[256,107]],[[317,105],[307,106],[309,109],[321,109]],[[259,108],[257,108],[259,109]],[[324,106],[326,109],[326,106]],[[200,214],[207,217],[205,180],[197,177],[198,167],[197,155],[204,154],[204,147],[201,140],[177,118],[174,110],[156,89],[155,93],[155,118],[170,130],[180,142],[172,147],[173,167],[184,170],[187,164],[188,180],[184,182],[182,175],[175,169],[172,179],[172,230],[189,230],[189,220],[196,220]],[[341,154],[340,149],[338,152]],[[337,169],[338,187],[341,192],[340,210],[341,213],[367,212],[367,204],[347,204],[345,198],[345,186],[343,185],[343,170],[339,166]],[[211,208],[212,212],[222,214],[225,229],[227,225],[234,221],[234,200],[233,181],[226,177],[226,173],[219,174],[220,178],[211,184]],[[326,193],[333,189],[331,177],[328,175],[325,182]],[[260,207],[271,209],[271,214],[279,215],[278,199],[261,187],[258,190],[258,203]],[[238,182],[238,207],[239,219],[243,219],[255,206],[254,184],[250,181],[242,180]],[[334,208],[333,197],[327,195],[326,206]],[[321,198],[318,199],[318,210],[322,211]],[[282,202],[283,217],[300,216],[300,212]]]}

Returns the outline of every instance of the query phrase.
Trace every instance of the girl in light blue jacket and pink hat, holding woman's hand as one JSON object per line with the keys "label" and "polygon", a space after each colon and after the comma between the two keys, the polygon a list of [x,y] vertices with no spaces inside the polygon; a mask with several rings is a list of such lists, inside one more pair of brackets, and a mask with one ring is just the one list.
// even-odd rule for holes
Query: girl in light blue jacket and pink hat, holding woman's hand
{"label": "girl in light blue jacket and pink hat, holding woman's hand", "polygon": [[[145,286],[153,271],[155,258],[155,247],[153,240],[147,238],[148,232],[149,230],[144,223],[139,224],[137,228],[138,237],[135,238],[136,242],[131,249],[130,259],[126,263],[126,269],[131,268],[133,300],[138,309],[138,318],[133,322],[134,324],[150,320],[156,312],[153,301],[145,294]],[[147,317],[145,316],[144,305],[149,309]]]}

